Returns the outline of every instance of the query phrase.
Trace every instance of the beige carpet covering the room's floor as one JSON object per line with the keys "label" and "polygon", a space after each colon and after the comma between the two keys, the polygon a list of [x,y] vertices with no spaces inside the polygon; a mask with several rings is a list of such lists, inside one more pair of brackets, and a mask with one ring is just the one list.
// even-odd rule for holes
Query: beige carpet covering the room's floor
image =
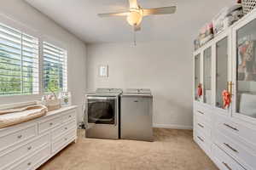
{"label": "beige carpet covering the room's floor", "polygon": [[39,170],[218,170],[192,131],[154,129],[154,142],[85,139],[70,144]]}

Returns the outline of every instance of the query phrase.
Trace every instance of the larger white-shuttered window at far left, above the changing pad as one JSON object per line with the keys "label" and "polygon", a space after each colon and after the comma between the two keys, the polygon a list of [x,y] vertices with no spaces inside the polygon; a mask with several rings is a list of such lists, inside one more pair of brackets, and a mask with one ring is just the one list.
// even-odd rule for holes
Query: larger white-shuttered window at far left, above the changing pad
{"label": "larger white-shuttered window at far left, above the changing pad", "polygon": [[0,96],[38,94],[38,38],[0,24]]}

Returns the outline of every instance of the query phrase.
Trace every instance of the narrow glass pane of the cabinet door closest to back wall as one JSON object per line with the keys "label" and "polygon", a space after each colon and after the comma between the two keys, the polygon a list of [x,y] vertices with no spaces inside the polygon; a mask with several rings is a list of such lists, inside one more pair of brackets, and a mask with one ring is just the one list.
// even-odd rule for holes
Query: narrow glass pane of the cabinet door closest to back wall
{"label": "narrow glass pane of the cabinet door closest to back wall", "polygon": [[200,54],[195,55],[195,77],[194,77],[194,82],[195,82],[195,100],[200,101],[200,96],[198,96],[197,88],[201,83],[201,59],[200,59]]}

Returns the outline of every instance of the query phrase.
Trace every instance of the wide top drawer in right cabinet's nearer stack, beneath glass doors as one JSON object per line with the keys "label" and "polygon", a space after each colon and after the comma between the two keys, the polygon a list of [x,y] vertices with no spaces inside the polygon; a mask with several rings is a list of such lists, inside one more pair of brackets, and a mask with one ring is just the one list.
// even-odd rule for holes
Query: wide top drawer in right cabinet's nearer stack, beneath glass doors
{"label": "wide top drawer in right cabinet's nearer stack, beneath glass doors", "polygon": [[217,122],[215,124],[219,131],[224,131],[232,139],[241,139],[247,145],[253,146],[256,149],[256,127],[249,128],[241,125],[240,123],[231,122],[224,116],[218,116]]}

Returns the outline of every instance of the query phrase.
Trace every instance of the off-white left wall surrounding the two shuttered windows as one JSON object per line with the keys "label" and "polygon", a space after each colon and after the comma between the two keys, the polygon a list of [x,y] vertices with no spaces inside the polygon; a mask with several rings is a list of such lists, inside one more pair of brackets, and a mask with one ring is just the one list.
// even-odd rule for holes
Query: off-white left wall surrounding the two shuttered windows
{"label": "off-white left wall surrounding the two shuttered windows", "polygon": [[[82,118],[82,101],[86,89],[86,47],[84,42],[65,31],[44,14],[39,13],[22,0],[1,1],[0,22],[10,24],[22,30],[36,32],[44,39],[63,44],[68,50],[68,89],[73,95],[73,104],[79,105],[79,120]],[[5,20],[6,19],[6,20]],[[1,97],[0,104],[41,99],[40,95]]]}

